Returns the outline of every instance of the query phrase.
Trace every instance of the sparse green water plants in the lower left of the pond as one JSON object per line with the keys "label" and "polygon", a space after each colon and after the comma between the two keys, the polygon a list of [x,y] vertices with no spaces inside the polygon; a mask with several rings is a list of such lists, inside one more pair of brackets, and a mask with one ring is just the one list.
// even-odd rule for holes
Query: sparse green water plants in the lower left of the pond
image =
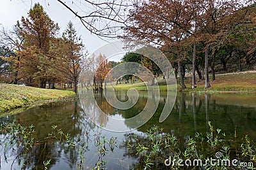
{"label": "sparse green water plants in the lower left of the pond", "polygon": [[[28,166],[29,162],[26,162],[27,159],[24,159],[24,157],[31,157],[33,150],[36,150],[36,148],[42,148],[40,150],[42,153],[39,155],[42,161],[33,165],[33,168],[50,169],[51,164],[54,164],[54,157],[48,155],[45,148],[51,147],[51,145],[59,145],[65,154],[70,153],[70,159],[72,159],[71,157],[74,153],[75,156],[72,161],[76,164],[77,169],[88,168],[88,165],[85,165],[85,153],[89,150],[88,141],[84,138],[75,139],[69,133],[65,134],[57,125],[52,125],[51,132],[42,139],[36,139],[36,132],[33,125],[29,125],[28,127],[23,126],[17,120],[13,120],[10,124],[1,124],[0,127],[0,134],[3,134],[0,136],[0,153],[3,153],[4,160],[7,163],[8,160],[12,160],[10,169],[12,169],[15,161],[20,162],[21,169]],[[105,169],[107,161],[104,160],[104,157],[108,152],[113,152],[117,147],[116,138],[111,137],[108,139],[99,130],[94,134],[94,141],[95,147],[97,147],[97,155],[95,155],[97,160],[93,162],[92,169]],[[16,155],[14,159],[13,155]]]}

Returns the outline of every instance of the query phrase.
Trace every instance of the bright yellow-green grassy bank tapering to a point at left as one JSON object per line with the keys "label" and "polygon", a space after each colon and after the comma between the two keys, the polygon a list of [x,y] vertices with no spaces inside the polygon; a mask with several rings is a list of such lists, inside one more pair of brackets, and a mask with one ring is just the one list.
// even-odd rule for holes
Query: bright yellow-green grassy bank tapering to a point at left
{"label": "bright yellow-green grassy bank tapering to a point at left", "polygon": [[40,105],[47,101],[56,101],[61,97],[71,96],[75,96],[75,93],[65,90],[38,89],[0,83],[0,113],[13,108]]}

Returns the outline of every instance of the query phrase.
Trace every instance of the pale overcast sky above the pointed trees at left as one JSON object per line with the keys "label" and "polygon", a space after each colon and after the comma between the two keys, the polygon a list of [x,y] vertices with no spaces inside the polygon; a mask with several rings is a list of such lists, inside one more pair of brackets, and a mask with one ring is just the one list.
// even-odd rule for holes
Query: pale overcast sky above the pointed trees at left
{"label": "pale overcast sky above the pointed trees at left", "polygon": [[[49,4],[48,4],[49,2]],[[59,24],[60,33],[62,33],[71,21],[76,27],[76,31],[81,35],[83,43],[89,53],[94,52],[100,46],[105,45],[107,41],[103,41],[97,36],[87,31],[79,19],[77,19],[67,8],[58,3],[56,0],[1,0],[0,3],[0,27],[12,29],[12,26],[16,24],[17,20],[20,20],[22,16],[28,17],[28,11],[34,6],[35,3],[40,3],[49,17]],[[71,1],[67,1],[71,3]],[[108,41],[113,41],[109,40]],[[120,58],[120,57],[119,57]],[[114,59],[118,60],[118,59]]]}

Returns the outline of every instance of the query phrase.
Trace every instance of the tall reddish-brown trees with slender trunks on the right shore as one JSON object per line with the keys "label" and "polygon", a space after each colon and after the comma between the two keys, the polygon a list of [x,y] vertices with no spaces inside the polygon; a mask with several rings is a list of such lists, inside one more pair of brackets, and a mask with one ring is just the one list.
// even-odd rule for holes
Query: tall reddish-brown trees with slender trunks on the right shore
{"label": "tall reddish-brown trees with slender trunks on the right shore", "polygon": [[140,39],[159,47],[170,60],[180,89],[185,70],[211,87],[209,73],[255,69],[254,1],[152,0],[134,3],[125,26],[126,40]]}

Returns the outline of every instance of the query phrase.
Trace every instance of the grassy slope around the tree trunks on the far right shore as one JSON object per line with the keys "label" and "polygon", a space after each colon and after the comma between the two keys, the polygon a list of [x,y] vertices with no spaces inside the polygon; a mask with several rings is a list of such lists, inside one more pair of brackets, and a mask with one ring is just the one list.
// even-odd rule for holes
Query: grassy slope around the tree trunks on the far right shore
{"label": "grassy slope around the tree trunks on the far right shore", "polygon": [[[228,73],[228,74],[216,74],[216,80],[212,80],[210,75],[209,89],[204,89],[205,80],[196,81],[196,89],[191,89],[191,76],[186,76],[185,84],[186,89],[184,91],[207,91],[207,92],[256,92],[256,73],[255,71],[241,72],[241,73]],[[159,89],[166,91],[166,85],[163,80],[158,80]],[[179,81],[177,81],[177,87],[179,90]],[[115,86],[116,90],[128,90],[135,88],[137,90],[147,90],[144,83],[135,83],[131,85],[121,83]]]}

